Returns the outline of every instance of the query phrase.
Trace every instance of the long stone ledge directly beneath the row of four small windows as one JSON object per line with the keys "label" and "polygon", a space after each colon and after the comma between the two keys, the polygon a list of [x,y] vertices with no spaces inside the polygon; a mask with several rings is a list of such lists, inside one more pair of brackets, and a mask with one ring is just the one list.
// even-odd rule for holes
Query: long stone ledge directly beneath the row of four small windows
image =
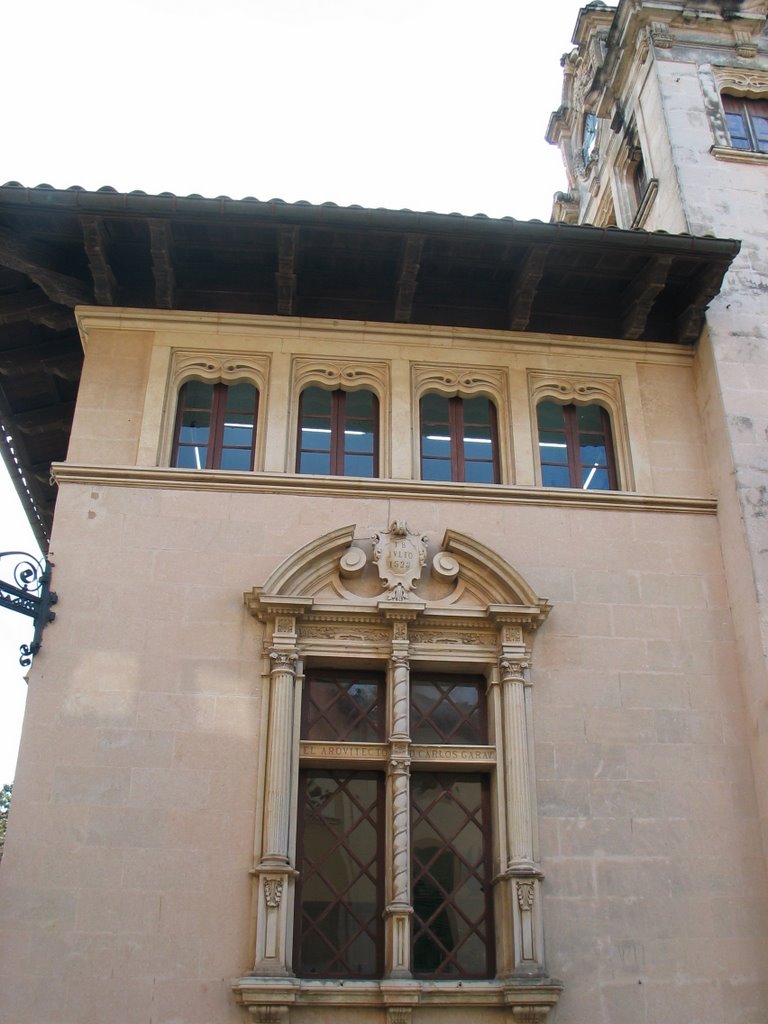
{"label": "long stone ledge directly beneath the row of four small windows", "polygon": [[227,494],[307,495],[310,497],[403,498],[495,505],[604,509],[627,512],[677,512],[714,515],[715,498],[642,495],[634,492],[528,487],[505,484],[434,483],[425,480],[371,480],[358,477],[300,476],[294,473],[232,473],[166,467],[91,466],[53,463],[56,483],[164,490],[220,490]]}

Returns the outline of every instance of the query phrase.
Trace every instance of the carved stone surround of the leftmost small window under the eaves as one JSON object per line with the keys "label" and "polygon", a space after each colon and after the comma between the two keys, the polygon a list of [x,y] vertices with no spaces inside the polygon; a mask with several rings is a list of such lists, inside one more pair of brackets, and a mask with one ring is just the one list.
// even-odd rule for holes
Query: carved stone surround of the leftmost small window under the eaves
{"label": "carved stone surround of the leftmost small window under the eaves", "polygon": [[[256,388],[256,438],[253,452],[253,469],[263,465],[264,424],[266,422],[266,382],[269,357],[241,352],[201,353],[176,349],[173,352],[168,385],[168,399],[162,426],[160,461],[171,465],[176,441],[178,401],[181,388],[188,381],[206,384],[248,383]],[[228,472],[224,470],[224,472]]]}

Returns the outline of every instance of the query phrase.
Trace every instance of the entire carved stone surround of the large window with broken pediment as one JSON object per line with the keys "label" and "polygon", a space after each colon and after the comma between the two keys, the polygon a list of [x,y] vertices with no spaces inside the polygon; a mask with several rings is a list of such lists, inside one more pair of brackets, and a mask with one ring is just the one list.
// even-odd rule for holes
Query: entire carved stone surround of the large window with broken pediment
{"label": "entire carved stone surround of the large window with broken pediment", "polygon": [[[408,534],[419,536],[411,530]],[[399,535],[390,527],[377,536],[390,537],[387,543],[393,544]],[[424,540],[431,555],[434,542]],[[383,543],[379,541],[380,548]],[[371,593],[370,584],[378,575],[373,547],[372,539],[355,540],[354,527],[335,530],[306,545],[279,566],[264,587],[245,595],[247,606],[264,628],[265,741],[260,744],[253,868],[254,966],[234,984],[236,997],[257,1020],[267,1010],[280,1010],[285,1013],[279,1019],[289,1022],[293,1006],[300,1006],[302,1014],[314,1006],[396,1009],[395,1020],[408,1019],[399,1011],[410,1008],[451,1005],[497,1008],[500,1021],[506,1021],[510,1013],[524,1012],[534,1014],[531,1020],[543,1022],[561,986],[548,978],[544,965],[528,665],[534,631],[545,620],[549,606],[493,551],[451,530],[432,558],[433,564],[442,566],[442,574],[433,572],[427,580],[425,567],[406,596],[394,598],[392,594],[399,594],[397,581],[382,577],[378,595]],[[356,563],[349,553],[358,550],[366,554],[368,575],[358,574],[350,581],[344,578],[341,566]],[[437,557],[440,554],[442,558]],[[456,564],[456,571],[446,571],[451,563]],[[357,588],[358,593],[348,588]],[[455,596],[453,604],[451,594]],[[346,595],[344,600],[342,595]],[[348,637],[345,646],[329,648],[342,635]],[[372,647],[376,651],[373,658]],[[432,671],[441,664],[444,669],[447,663],[454,672],[457,653],[464,659],[465,671],[480,673],[487,680],[490,745],[446,746],[408,740],[403,745],[398,738],[402,732],[398,693],[408,693],[409,664]],[[299,739],[300,689],[305,666],[311,663],[388,664],[393,702],[387,742]],[[328,764],[329,755],[339,764],[364,769],[374,765],[385,768],[392,759],[399,763],[404,758],[409,765],[439,764],[441,768],[456,766],[496,774],[493,854],[499,927],[495,979],[436,982],[410,977],[407,888],[402,893],[389,891],[386,920],[390,935],[382,980],[317,982],[293,976],[296,778],[300,762]],[[387,786],[397,783],[397,772],[388,771]],[[388,872],[396,879],[398,857],[407,851],[397,852],[397,829],[389,835],[394,846]],[[399,930],[398,924],[403,926]]]}

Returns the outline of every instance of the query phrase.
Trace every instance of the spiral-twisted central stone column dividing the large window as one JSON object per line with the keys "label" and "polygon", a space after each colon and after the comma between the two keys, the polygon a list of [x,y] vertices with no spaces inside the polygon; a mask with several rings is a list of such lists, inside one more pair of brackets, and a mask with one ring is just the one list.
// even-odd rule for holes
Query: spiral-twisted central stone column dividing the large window
{"label": "spiral-twisted central stone column dividing the large window", "polygon": [[408,627],[397,623],[392,640],[392,705],[389,730],[387,806],[391,837],[387,892],[386,974],[411,976],[411,753],[409,735],[410,671]]}

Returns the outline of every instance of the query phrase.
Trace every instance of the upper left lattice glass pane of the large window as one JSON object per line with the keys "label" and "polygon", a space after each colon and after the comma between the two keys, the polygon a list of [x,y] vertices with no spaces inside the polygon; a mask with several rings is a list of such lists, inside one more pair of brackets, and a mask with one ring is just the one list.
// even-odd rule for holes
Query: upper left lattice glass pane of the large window
{"label": "upper left lattice glass pane of the large window", "polygon": [[307,674],[302,694],[303,739],[374,743],[384,736],[384,680],[354,672]]}

